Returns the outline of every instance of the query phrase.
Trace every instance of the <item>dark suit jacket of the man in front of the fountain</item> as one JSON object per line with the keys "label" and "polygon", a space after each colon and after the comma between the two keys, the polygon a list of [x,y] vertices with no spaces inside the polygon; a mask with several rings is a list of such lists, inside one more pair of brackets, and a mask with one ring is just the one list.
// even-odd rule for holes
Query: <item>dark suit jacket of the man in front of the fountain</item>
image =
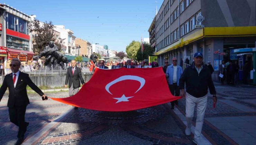
{"label": "dark suit jacket of the man in front of the fountain", "polygon": [[79,88],[80,85],[81,85],[80,81],[81,81],[82,84],[84,84],[84,79],[82,77],[81,68],[75,67],[74,75],[72,75],[72,67],[68,68],[67,69],[66,80],[65,80],[65,85],[67,85],[67,82],[68,82],[68,88],[70,88],[72,83],[73,83],[73,88]]}

